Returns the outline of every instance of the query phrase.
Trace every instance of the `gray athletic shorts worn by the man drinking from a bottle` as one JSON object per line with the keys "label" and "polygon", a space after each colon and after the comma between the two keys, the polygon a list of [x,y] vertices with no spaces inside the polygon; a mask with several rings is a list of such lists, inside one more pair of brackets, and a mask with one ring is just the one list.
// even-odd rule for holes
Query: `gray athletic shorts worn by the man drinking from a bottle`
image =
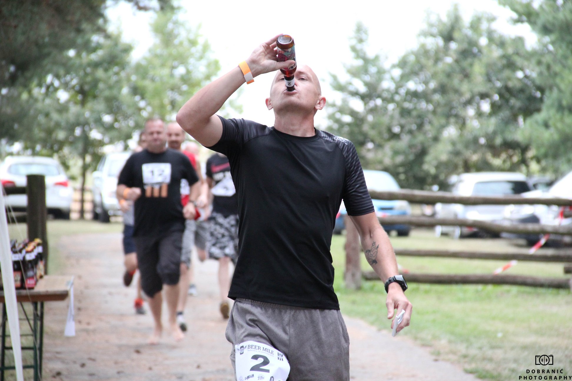
{"label": "gray athletic shorts worn by the man drinking from a bottle", "polygon": [[[226,335],[233,344],[231,362],[235,379],[235,346],[256,342],[285,355],[290,366],[288,381],[349,381],[349,336],[339,310],[314,310],[236,299]],[[240,361],[249,360],[249,356],[240,356],[239,351]],[[253,380],[279,379],[268,372],[267,368],[271,366],[264,368],[268,361],[264,352],[252,359],[256,362],[250,368]]]}

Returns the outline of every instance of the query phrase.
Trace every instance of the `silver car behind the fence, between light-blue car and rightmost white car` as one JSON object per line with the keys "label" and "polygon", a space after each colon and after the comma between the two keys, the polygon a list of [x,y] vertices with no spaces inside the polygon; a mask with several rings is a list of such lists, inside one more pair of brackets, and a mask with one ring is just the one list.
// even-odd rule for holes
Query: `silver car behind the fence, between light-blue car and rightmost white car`
{"label": "silver car behind the fence, between light-blue car and rightmost white car", "polygon": [[[451,192],[463,196],[502,196],[522,194],[530,191],[526,176],[515,172],[463,173],[451,181]],[[500,222],[505,213],[505,205],[462,205],[435,204],[436,218],[467,218],[487,222]],[[451,235],[460,238],[476,234],[473,227],[435,226],[435,235]],[[487,232],[481,232],[487,234]]]}

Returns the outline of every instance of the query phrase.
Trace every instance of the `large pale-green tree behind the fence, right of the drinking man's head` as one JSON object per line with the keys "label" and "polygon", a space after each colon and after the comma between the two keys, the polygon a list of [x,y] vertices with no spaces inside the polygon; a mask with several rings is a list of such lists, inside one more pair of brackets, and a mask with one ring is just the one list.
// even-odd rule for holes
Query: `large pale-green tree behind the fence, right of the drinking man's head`
{"label": "large pale-green tree behind the fence, right of the drinking man's head", "polygon": [[494,21],[475,14],[466,22],[454,6],[429,18],[419,46],[388,69],[368,55],[368,32],[356,26],[348,79],[332,76],[342,99],[331,129],[356,144],[364,167],[390,172],[403,187],[445,185],[465,171],[526,171],[533,155],[518,133],[543,89],[530,64],[535,52]]}

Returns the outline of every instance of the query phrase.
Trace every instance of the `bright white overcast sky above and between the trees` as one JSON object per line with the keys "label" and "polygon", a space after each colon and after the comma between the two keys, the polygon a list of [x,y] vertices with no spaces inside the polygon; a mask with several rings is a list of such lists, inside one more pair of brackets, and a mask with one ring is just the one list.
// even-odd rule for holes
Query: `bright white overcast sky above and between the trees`
{"label": "bright white overcast sky above and between the trees", "polygon": [[[388,62],[395,62],[407,50],[415,48],[416,35],[424,26],[427,11],[444,15],[456,2],[355,0],[332,6],[324,1],[307,0],[297,7],[285,5],[287,3],[260,0],[182,2],[190,25],[201,25],[201,33],[221,63],[221,74],[237,66],[261,42],[279,33],[291,34],[296,43],[297,62],[311,66],[316,72],[326,99],[335,97],[329,87],[329,73],[343,75],[343,64],[351,62],[348,40],[356,22],[362,21],[370,31],[371,52],[380,52]],[[506,34],[525,35],[532,41],[530,30],[511,26],[508,21],[511,11],[496,1],[463,0],[459,3],[466,19],[475,11],[488,11],[499,17],[497,29]],[[152,42],[149,31],[152,14],[134,11],[131,5],[120,3],[110,9],[108,15],[112,25],[121,29],[125,41],[136,47],[134,55],[144,54]],[[243,85],[240,101],[244,112],[236,117],[273,125],[273,113],[264,104],[272,78],[273,74],[265,74],[251,85]],[[324,111],[318,114],[316,127],[325,127]]]}

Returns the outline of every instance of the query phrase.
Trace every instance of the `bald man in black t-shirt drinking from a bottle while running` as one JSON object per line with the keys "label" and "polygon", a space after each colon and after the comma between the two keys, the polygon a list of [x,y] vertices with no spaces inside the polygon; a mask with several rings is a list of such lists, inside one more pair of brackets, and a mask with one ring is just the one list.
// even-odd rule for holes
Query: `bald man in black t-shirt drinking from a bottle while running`
{"label": "bald man in black t-shirt drinking from a bottle while running", "polygon": [[342,199],[368,262],[387,279],[388,319],[396,309],[405,311],[398,331],[409,325],[412,306],[406,284],[392,278],[398,275],[395,254],[374,213],[355,147],[314,128],[325,98],[309,67],[297,68],[294,91],[276,74],[266,99],[275,114],[273,127],[215,115],[245,81],[295,64],[277,62],[277,37],[197,91],[177,122],[231,164],[239,259],[229,291],[236,302],[227,339],[235,345],[236,378],[347,381],[349,338],[333,292],[329,252]]}

